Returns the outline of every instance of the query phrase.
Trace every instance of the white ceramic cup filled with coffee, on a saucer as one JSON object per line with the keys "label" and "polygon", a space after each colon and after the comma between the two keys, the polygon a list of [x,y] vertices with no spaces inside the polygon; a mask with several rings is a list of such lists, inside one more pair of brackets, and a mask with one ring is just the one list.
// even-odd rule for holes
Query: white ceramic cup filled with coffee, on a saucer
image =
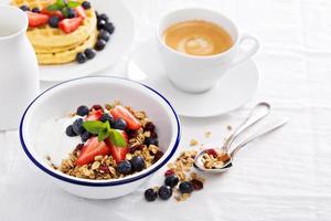
{"label": "white ceramic cup filled with coffee, on a saucer", "polygon": [[[199,56],[178,52],[164,43],[164,30],[172,24],[192,20],[218,24],[233,39],[233,46],[218,54]],[[249,46],[245,46],[248,49],[243,46],[246,41],[249,42]],[[164,15],[157,27],[157,42],[168,77],[177,87],[189,93],[211,90],[229,69],[249,59],[259,48],[256,38],[249,34],[239,35],[237,27],[228,18],[204,8],[180,9]]]}

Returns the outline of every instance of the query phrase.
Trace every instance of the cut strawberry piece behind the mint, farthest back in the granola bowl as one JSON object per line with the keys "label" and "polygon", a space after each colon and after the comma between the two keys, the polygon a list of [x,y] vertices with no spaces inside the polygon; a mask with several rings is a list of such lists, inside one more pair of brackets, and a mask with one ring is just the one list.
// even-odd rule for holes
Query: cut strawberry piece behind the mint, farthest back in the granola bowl
{"label": "cut strawberry piece behind the mint, farthest back in the granola bowl", "polygon": [[116,106],[110,109],[110,114],[115,119],[122,118],[127,123],[129,129],[138,130],[141,127],[140,122],[124,106]]}

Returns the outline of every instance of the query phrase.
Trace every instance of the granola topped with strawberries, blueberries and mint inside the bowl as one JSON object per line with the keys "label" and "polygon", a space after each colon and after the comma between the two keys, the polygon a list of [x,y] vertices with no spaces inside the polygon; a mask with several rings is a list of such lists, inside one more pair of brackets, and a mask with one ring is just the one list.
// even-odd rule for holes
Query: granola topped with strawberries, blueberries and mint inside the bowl
{"label": "granola topped with strawberries, blueberries and mint inside the bowl", "polygon": [[85,179],[117,179],[139,172],[163,152],[159,148],[157,128],[143,110],[113,104],[79,106],[72,115],[66,135],[81,136],[78,144],[60,170]]}

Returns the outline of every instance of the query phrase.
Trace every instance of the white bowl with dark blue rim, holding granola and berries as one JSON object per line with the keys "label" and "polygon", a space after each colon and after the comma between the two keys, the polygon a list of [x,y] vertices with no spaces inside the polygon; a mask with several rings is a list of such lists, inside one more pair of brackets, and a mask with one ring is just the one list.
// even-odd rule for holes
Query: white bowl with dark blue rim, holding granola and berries
{"label": "white bowl with dark blue rim, holding granola and berries", "polygon": [[[60,165],[79,143],[76,137],[66,137],[67,123],[63,119],[82,104],[115,99],[148,114],[157,127],[162,157],[142,171],[117,179],[85,179],[56,169],[54,165]],[[117,198],[135,191],[171,159],[180,134],[179,117],[166,97],[143,84],[111,76],[71,80],[46,90],[29,105],[20,125],[21,145],[31,162],[67,192],[90,199]]]}

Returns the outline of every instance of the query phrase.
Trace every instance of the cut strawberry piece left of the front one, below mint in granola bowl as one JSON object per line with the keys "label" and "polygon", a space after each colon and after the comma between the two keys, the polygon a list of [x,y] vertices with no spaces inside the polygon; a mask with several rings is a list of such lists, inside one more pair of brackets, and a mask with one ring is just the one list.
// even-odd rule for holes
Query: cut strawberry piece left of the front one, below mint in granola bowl
{"label": "cut strawberry piece left of the front one, below mint in granola bowl", "polygon": [[83,166],[90,164],[94,161],[94,157],[99,155],[109,155],[109,152],[110,148],[106,145],[105,141],[99,141],[97,137],[92,137],[85,143],[78,156],[78,159],[76,160],[76,165]]}

